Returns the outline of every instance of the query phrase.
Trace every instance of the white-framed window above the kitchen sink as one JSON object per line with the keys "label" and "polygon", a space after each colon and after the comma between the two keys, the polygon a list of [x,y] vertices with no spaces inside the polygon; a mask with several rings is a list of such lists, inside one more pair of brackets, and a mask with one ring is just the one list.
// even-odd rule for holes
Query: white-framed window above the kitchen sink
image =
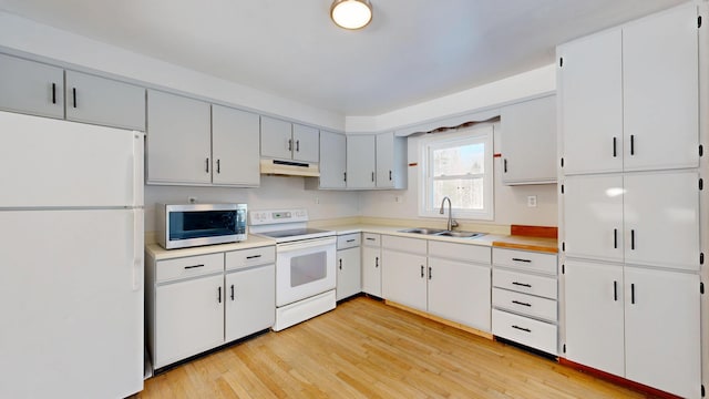
{"label": "white-framed window above the kitchen sink", "polygon": [[439,209],[448,196],[454,217],[492,221],[492,125],[422,139],[419,215],[441,217]]}

